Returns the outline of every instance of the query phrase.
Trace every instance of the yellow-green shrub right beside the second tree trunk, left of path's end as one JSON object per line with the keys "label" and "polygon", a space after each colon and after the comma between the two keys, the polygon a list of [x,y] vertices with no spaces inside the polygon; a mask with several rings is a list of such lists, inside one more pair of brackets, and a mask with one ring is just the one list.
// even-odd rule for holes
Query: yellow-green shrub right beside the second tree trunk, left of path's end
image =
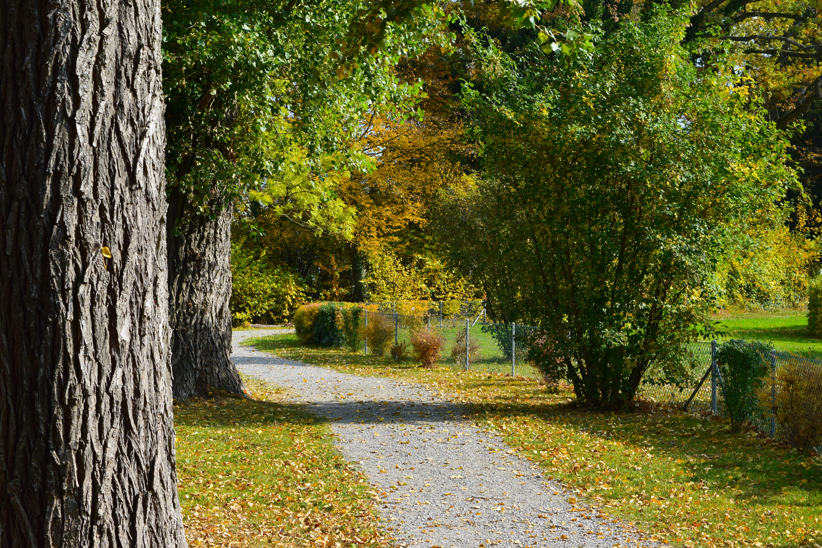
{"label": "yellow-green shrub right beside the second tree trunk, left of path's end", "polygon": [[231,246],[229,308],[234,325],[279,324],[306,302],[306,286],[296,274],[279,269],[252,251]]}

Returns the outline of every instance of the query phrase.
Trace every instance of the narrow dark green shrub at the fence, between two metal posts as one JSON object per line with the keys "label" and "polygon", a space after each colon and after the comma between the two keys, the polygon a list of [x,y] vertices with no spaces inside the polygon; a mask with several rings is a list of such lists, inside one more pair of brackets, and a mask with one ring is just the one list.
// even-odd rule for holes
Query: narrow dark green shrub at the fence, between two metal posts
{"label": "narrow dark green shrub at the fence, between two metal posts", "polygon": [[766,343],[746,343],[738,338],[719,345],[717,366],[723,380],[725,414],[733,431],[739,431],[742,423],[760,408],[757,393],[770,372],[771,350],[773,347]]}

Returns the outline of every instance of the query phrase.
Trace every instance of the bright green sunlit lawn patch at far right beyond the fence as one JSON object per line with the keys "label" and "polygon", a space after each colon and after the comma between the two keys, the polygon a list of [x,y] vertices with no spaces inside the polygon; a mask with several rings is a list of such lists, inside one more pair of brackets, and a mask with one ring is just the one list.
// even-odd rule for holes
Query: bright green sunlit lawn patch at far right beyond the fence
{"label": "bright green sunlit lawn patch at far right beyond the fence", "polygon": [[779,351],[822,360],[822,339],[806,334],[806,312],[749,312],[722,318],[721,322],[726,338],[768,341]]}

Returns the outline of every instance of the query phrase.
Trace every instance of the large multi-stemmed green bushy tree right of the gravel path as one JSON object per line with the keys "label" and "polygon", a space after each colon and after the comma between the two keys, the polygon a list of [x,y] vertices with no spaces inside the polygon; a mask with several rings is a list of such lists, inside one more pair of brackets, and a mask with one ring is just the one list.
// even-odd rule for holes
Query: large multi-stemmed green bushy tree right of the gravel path
{"label": "large multi-stemmed green bushy tree right of the gravel path", "polygon": [[486,180],[447,200],[447,248],[601,408],[698,334],[723,242],[795,184],[749,90],[690,63],[685,21],[627,22],[571,62],[489,47],[465,92]]}

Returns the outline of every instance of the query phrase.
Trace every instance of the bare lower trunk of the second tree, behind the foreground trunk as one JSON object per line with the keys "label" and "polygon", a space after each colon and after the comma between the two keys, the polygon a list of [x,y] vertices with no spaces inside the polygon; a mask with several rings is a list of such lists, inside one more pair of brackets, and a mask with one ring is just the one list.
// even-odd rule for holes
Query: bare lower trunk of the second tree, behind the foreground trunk
{"label": "bare lower trunk of the second tree, behind the foreground trunk", "polygon": [[209,388],[247,394],[231,361],[229,201],[213,198],[210,219],[173,188],[169,196],[169,296],[174,398]]}

